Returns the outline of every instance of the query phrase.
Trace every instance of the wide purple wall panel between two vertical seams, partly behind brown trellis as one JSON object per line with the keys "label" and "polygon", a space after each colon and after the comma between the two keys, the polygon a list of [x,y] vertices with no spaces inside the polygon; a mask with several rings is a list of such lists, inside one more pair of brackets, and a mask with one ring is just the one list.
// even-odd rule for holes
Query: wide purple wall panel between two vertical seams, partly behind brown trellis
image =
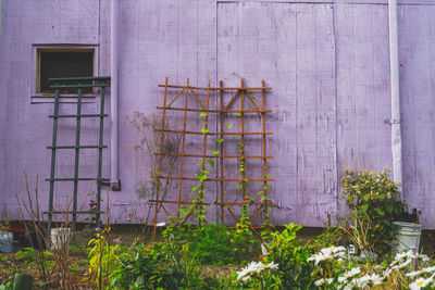
{"label": "wide purple wall panel between two vertical seams, partly behind brown trellis", "polygon": [[270,150],[285,161],[271,167],[277,224],[320,226],[335,212],[332,11],[323,4],[219,4],[219,77],[254,81],[265,75],[273,87],[266,94],[268,106],[276,109],[268,122],[276,131]]}

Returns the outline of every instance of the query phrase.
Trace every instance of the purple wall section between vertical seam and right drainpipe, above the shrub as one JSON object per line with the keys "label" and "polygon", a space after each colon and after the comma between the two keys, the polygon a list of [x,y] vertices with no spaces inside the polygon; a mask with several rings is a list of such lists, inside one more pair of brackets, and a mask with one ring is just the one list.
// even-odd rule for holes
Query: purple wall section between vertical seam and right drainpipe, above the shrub
{"label": "purple wall section between vertical seam and right drainpipe, above the shrub", "polygon": [[339,177],[391,167],[387,8],[337,4],[335,15]]}

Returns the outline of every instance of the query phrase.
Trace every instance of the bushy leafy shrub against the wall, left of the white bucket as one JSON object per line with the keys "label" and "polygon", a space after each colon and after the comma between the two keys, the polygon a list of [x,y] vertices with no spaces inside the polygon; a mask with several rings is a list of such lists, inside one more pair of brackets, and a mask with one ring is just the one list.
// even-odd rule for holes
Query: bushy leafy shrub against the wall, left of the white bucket
{"label": "bushy leafy shrub against the wall, left of the white bucket", "polygon": [[395,220],[406,212],[400,200],[400,185],[388,177],[388,168],[382,173],[346,169],[341,178],[343,192],[355,222],[348,228],[350,238],[366,250],[373,248],[385,253],[396,237]]}

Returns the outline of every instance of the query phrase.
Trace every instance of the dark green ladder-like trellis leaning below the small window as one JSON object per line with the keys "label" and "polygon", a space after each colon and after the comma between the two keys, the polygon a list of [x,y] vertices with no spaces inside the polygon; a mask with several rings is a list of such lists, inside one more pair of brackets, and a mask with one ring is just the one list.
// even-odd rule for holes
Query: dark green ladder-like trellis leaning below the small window
{"label": "dark green ladder-like trellis leaning below the small window", "polygon": [[[53,81],[55,85],[50,86],[54,89],[54,113],[49,115],[50,118],[53,118],[53,135],[52,135],[52,143],[48,149],[51,149],[51,173],[50,178],[47,178],[47,181],[50,181],[50,197],[49,197],[49,206],[48,212],[45,214],[48,215],[48,234],[51,234],[51,227],[53,223],[53,215],[62,214],[62,215],[72,215],[72,226],[73,230],[76,229],[77,224],[77,214],[95,214],[96,215],[96,226],[100,226],[100,215],[104,212],[101,212],[101,181],[102,181],[102,149],[107,148],[103,144],[103,129],[104,129],[104,117],[109,116],[104,114],[104,92],[105,88],[110,86],[110,77],[67,77],[67,78],[49,78],[50,81]],[[73,85],[71,85],[74,83]],[[85,83],[85,84],[82,84]],[[62,85],[63,84],[63,85]],[[90,85],[89,85],[90,84]],[[86,88],[100,88],[100,113],[99,114],[82,114],[82,103],[83,103],[83,89]],[[72,115],[60,115],[59,114],[59,98],[61,90],[69,89],[77,90],[77,113]],[[95,117],[100,119],[99,124],[99,137],[97,146],[82,146],[80,144],[80,121],[82,118]],[[76,135],[75,135],[75,144],[73,146],[58,146],[58,119],[59,118],[76,118]],[[57,151],[60,150],[75,150],[75,162],[74,162],[74,177],[71,178],[57,178],[55,177],[55,156]],[[79,162],[79,153],[80,149],[98,149],[98,173],[96,177],[78,177],[78,162]],[[91,181],[95,180],[97,182],[97,207],[96,211],[77,211],[77,190],[78,190],[78,181]],[[53,197],[54,197],[54,182],[55,181],[73,181],[73,211],[53,211]]]}

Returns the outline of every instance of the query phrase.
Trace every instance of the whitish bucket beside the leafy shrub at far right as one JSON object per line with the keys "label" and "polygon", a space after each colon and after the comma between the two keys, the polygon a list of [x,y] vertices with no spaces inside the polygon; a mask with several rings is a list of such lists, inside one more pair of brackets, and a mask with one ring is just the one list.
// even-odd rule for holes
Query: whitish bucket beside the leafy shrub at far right
{"label": "whitish bucket beside the leafy shrub at far right", "polygon": [[420,248],[421,225],[413,223],[395,222],[397,226],[397,250],[400,252]]}

